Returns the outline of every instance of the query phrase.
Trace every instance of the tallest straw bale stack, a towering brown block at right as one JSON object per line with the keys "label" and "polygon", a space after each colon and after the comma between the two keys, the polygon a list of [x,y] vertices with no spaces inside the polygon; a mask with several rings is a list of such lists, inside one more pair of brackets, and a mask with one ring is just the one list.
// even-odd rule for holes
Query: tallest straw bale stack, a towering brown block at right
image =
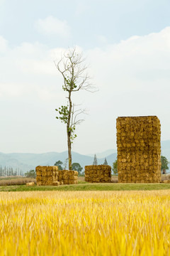
{"label": "tallest straw bale stack, a towering brown block at right", "polygon": [[161,125],[157,117],[118,117],[118,182],[161,181]]}

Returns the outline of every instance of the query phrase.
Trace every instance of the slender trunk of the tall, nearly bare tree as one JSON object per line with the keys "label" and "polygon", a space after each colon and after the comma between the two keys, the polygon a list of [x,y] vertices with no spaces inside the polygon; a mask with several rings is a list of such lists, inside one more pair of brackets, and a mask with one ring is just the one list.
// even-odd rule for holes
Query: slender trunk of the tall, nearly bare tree
{"label": "slender trunk of the tall, nearly bare tree", "polygon": [[72,143],[71,143],[71,130],[70,130],[70,119],[72,114],[72,100],[71,92],[69,92],[69,117],[67,122],[67,145],[68,145],[68,156],[69,156],[69,170],[72,170]]}

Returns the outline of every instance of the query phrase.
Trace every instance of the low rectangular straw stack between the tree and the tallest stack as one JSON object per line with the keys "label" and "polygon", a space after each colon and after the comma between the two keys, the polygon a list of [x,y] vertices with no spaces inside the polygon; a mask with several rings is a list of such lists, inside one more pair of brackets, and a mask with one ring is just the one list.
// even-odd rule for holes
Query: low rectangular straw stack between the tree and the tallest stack
{"label": "low rectangular straw stack between the tree and the tallest stack", "polygon": [[103,164],[85,166],[85,181],[111,182],[111,166]]}

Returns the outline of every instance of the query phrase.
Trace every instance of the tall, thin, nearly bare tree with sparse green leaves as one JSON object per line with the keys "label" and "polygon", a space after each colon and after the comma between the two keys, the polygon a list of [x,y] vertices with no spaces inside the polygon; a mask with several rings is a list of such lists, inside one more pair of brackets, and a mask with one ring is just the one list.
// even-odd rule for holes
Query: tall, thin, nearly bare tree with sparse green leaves
{"label": "tall, thin, nearly bare tree with sparse green leaves", "polygon": [[89,82],[90,78],[86,72],[87,67],[84,65],[83,55],[78,53],[76,48],[67,50],[59,62],[55,61],[55,66],[64,79],[62,89],[67,92],[67,106],[56,109],[59,115],[56,118],[67,125],[69,170],[72,170],[72,143],[77,137],[75,129],[77,124],[84,121],[84,119],[79,119],[79,114],[84,113],[84,110],[75,110],[76,105],[72,102],[72,92],[79,92],[79,90],[94,92],[94,87]]}

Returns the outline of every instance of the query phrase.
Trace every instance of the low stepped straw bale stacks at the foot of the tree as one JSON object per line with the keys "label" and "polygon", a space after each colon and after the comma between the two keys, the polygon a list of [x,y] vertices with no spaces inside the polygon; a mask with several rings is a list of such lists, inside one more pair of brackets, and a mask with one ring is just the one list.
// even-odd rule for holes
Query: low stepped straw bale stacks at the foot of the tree
{"label": "low stepped straw bale stacks at the foot of the tree", "polygon": [[78,183],[78,171],[59,171],[58,166],[37,166],[36,174],[38,186],[58,186]]}

